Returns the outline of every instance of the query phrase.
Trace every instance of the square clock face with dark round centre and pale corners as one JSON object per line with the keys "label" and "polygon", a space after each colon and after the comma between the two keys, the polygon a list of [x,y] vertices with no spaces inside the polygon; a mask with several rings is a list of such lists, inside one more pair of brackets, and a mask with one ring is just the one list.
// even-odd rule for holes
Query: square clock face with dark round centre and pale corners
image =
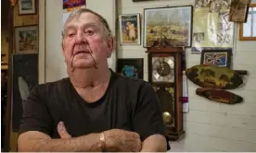
{"label": "square clock face with dark round centre and pale corners", "polygon": [[174,82],[174,58],[152,57],[152,81]]}

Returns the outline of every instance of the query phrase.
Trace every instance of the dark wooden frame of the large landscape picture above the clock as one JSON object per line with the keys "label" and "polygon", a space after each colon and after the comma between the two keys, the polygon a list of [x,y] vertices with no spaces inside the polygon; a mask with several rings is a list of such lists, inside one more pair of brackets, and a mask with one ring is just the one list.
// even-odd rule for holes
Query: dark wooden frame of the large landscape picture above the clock
{"label": "dark wooden frame of the large landscape picture above the clock", "polygon": [[[191,7],[191,12],[190,12],[190,14],[191,14],[191,19],[190,19],[190,22],[191,22],[191,24],[190,24],[190,45],[188,45],[188,46],[172,46],[172,47],[191,47],[192,46],[192,39],[193,39],[193,37],[192,37],[192,34],[193,34],[193,12],[194,12],[194,6],[192,6],[192,5],[187,5],[187,6],[189,6],[189,7]],[[146,35],[147,35],[147,33],[145,33],[145,29],[146,29],[146,16],[145,16],[145,11],[146,10],[148,10],[148,9],[162,9],[162,8],[176,8],[176,7],[186,7],[186,6],[165,6],[165,7],[154,7],[154,8],[144,8],[144,12],[143,12],[143,16],[144,16],[144,23],[143,23],[143,32],[142,32],[142,34],[143,34],[143,37],[141,37],[141,38],[143,38],[143,40],[142,40],[142,43],[143,43],[143,47],[144,48],[148,48],[148,47],[150,47],[150,46],[146,46],[145,45],[145,39],[146,39]],[[172,45],[172,44],[171,44]]]}

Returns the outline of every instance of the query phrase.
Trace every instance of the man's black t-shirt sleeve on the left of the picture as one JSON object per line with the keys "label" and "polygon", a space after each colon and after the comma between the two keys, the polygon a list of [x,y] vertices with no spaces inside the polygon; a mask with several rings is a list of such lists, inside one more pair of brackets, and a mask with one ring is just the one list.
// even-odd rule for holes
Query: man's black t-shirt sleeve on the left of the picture
{"label": "man's black t-shirt sleeve on the left of the picture", "polygon": [[32,88],[19,124],[19,134],[39,131],[51,135],[51,117],[41,94],[38,86]]}

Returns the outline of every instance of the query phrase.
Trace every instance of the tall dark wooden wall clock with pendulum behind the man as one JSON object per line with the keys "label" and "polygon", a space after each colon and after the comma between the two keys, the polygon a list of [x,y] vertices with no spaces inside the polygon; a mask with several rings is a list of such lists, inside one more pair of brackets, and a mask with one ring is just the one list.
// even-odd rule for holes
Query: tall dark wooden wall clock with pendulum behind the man
{"label": "tall dark wooden wall clock with pendulum behind the man", "polygon": [[151,47],[148,53],[148,82],[155,88],[170,140],[185,133],[183,125],[183,48]]}

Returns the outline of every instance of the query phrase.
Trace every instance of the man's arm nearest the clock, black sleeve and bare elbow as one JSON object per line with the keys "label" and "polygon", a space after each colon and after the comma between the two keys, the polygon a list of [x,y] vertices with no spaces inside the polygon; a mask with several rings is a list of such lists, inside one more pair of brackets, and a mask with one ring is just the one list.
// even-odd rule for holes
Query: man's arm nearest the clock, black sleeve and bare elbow
{"label": "man's arm nearest the clock, black sleeve and bare elbow", "polygon": [[139,95],[134,111],[134,131],[141,135],[141,152],[166,152],[170,146],[164,136],[165,125],[156,92],[146,83]]}

